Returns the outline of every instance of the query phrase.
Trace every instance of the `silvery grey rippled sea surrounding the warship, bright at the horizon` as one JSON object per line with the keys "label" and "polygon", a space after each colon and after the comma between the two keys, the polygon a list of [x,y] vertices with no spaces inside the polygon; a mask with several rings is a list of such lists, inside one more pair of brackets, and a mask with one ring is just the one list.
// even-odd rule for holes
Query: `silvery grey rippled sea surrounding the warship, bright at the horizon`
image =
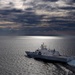
{"label": "silvery grey rippled sea surrounding the warship, bright at the horizon", "polygon": [[0,75],[75,75],[59,63],[46,63],[25,57],[42,43],[61,55],[75,56],[75,37],[0,36]]}

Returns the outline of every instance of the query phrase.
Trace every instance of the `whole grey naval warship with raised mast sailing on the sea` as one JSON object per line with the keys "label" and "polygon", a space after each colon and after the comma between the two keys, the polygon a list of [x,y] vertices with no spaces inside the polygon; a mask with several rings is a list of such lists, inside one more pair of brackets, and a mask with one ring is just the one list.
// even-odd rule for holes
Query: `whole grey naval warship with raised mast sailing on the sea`
{"label": "whole grey naval warship with raised mast sailing on the sea", "polygon": [[59,51],[47,49],[46,45],[41,44],[40,49],[35,52],[25,51],[28,57],[48,61],[48,62],[70,62],[73,58],[69,56],[60,55]]}

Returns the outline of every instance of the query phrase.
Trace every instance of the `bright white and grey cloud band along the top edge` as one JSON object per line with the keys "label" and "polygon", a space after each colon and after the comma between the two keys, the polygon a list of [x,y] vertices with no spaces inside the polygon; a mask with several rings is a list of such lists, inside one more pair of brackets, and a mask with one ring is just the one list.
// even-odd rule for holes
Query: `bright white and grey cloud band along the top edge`
{"label": "bright white and grey cloud band along the top edge", "polygon": [[[0,0],[0,8],[16,8],[26,10],[32,8],[34,10],[51,11],[58,7],[72,7],[75,0]],[[72,4],[72,5],[70,5]]]}

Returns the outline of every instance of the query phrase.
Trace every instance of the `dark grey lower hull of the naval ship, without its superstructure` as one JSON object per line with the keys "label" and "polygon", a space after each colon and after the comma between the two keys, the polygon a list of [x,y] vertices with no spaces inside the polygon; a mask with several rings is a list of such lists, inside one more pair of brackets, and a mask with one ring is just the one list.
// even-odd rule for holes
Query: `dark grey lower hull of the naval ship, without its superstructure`
{"label": "dark grey lower hull of the naval ship, without its superstructure", "polygon": [[38,55],[35,52],[29,52],[26,51],[26,54],[30,58],[42,60],[45,62],[61,62],[61,63],[67,63],[68,59],[67,57],[62,57],[62,56],[44,56],[44,55]]}

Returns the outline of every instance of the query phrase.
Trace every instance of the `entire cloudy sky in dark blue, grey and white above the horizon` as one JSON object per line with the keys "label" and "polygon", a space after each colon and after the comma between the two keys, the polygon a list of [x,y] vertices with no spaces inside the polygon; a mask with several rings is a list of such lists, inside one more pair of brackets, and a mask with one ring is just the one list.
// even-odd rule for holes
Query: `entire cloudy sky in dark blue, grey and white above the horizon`
{"label": "entire cloudy sky in dark blue, grey and white above the horizon", "polygon": [[75,0],[0,0],[0,35],[75,35]]}

